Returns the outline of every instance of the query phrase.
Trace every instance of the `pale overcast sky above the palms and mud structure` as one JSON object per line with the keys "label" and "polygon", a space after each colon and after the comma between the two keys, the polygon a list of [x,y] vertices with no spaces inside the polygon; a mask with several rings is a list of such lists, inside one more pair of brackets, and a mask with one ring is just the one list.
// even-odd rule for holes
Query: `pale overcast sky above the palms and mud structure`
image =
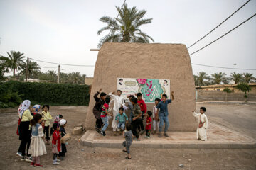
{"label": "pale overcast sky above the palms and mud structure", "polygon": [[[102,35],[97,30],[105,26],[102,16],[117,16],[114,6],[122,6],[121,0],[1,0],[0,1],[0,54],[17,50],[37,60],[67,64],[94,65],[97,48]],[[245,1],[242,0],[177,0],[149,1],[127,0],[129,7],[147,11],[146,18],[152,23],[142,30],[155,42],[183,43],[191,45],[230,16]],[[220,28],[189,49],[189,52],[215,40],[256,12],[256,1],[250,1],[244,8],[223,23]],[[256,17],[232,33],[213,43],[206,49],[191,55],[191,61],[220,67],[256,69]],[[56,64],[38,62],[42,67],[57,67]],[[236,64],[236,65],[233,65]],[[61,66],[62,72],[80,72],[92,77],[93,67]],[[53,68],[57,71],[57,68]],[[48,69],[42,69],[46,72]],[[207,72],[251,72],[217,69],[193,65],[193,73]]]}

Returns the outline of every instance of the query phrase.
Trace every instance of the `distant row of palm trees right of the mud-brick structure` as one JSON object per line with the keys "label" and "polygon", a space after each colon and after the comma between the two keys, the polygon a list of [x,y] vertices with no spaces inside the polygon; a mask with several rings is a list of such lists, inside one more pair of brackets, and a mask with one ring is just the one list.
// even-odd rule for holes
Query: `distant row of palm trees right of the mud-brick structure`
{"label": "distant row of palm trees right of the mud-brick structure", "polygon": [[214,84],[230,84],[230,81],[234,81],[235,84],[239,83],[253,83],[255,77],[252,73],[236,73],[233,72],[227,77],[227,74],[223,72],[216,72],[213,74],[207,74],[206,72],[198,72],[197,75],[193,75],[196,86],[208,86]]}

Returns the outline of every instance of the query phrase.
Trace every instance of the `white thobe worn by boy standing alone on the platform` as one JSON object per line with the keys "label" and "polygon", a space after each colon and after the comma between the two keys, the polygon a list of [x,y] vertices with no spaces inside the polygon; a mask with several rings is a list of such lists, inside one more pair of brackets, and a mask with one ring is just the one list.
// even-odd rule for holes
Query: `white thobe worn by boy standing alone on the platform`
{"label": "white thobe worn by boy standing alone on the platform", "polygon": [[196,139],[200,140],[207,140],[207,135],[206,135],[206,129],[208,128],[208,118],[207,116],[203,113],[196,113],[193,112],[193,116],[195,116],[198,119],[198,125],[201,122],[203,123],[203,126],[201,128],[197,128],[196,130]]}

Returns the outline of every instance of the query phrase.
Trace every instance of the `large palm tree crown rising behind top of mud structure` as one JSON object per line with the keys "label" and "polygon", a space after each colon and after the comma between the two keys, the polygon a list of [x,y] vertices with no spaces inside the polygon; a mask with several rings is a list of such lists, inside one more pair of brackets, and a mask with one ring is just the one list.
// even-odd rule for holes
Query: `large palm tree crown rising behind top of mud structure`
{"label": "large palm tree crown rising behind top of mud structure", "polygon": [[138,11],[134,6],[128,8],[127,4],[124,4],[124,8],[117,7],[119,12],[119,18],[111,18],[109,16],[103,16],[100,21],[107,23],[107,26],[98,30],[97,35],[100,35],[104,30],[110,30],[110,35],[105,35],[98,44],[98,47],[102,47],[104,42],[138,42],[149,43],[150,40],[154,42],[146,33],[139,29],[147,23],[151,23],[153,18],[143,18],[146,14],[145,10]]}

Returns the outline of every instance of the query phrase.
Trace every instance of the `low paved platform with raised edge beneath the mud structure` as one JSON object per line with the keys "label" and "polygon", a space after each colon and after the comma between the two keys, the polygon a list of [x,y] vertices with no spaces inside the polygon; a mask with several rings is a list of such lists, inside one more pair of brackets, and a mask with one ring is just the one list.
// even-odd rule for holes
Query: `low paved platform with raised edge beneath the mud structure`
{"label": "low paved platform with raised edge beneath the mud structure", "polygon": [[[141,141],[132,142],[132,147],[143,148],[189,148],[189,149],[247,149],[255,148],[256,141],[245,137],[238,132],[210,123],[208,140],[196,140],[196,132],[169,132],[169,137],[151,135],[150,139],[141,135]],[[106,136],[89,130],[81,137],[80,144],[90,147],[122,148],[124,137],[114,136],[112,131],[107,131]]]}

